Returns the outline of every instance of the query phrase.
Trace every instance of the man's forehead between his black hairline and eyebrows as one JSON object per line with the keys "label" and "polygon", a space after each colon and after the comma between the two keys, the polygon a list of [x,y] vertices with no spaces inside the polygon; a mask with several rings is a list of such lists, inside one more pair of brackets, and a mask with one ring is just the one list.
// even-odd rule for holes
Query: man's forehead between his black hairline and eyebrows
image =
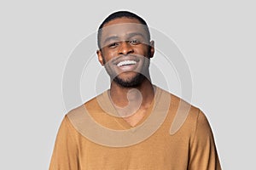
{"label": "man's forehead between his black hairline and eyebrows", "polygon": [[104,41],[104,38],[109,36],[125,37],[136,32],[146,37],[147,33],[145,27],[146,26],[141,24],[137,19],[122,17],[110,20],[102,27],[102,40]]}

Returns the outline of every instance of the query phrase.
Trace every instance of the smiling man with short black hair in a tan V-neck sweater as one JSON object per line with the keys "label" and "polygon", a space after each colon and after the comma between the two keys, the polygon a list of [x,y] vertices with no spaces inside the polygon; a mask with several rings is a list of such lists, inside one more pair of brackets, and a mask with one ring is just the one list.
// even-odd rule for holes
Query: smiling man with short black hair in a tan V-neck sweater
{"label": "smiling man with short black hair in a tan V-neck sweater", "polygon": [[110,89],[67,113],[49,169],[221,169],[207,117],[150,81],[154,41],[142,18],[110,14],[98,47]]}

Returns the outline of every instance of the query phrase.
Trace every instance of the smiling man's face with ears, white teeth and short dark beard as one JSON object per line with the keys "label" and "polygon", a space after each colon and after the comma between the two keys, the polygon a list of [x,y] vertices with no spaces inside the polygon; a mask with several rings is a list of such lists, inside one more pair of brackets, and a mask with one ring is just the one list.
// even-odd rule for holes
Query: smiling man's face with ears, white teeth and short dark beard
{"label": "smiling man's face with ears, white teeth and short dark beard", "polygon": [[98,59],[115,83],[134,87],[149,77],[154,42],[148,41],[147,32],[137,19],[123,17],[109,21],[102,28],[100,44]]}

